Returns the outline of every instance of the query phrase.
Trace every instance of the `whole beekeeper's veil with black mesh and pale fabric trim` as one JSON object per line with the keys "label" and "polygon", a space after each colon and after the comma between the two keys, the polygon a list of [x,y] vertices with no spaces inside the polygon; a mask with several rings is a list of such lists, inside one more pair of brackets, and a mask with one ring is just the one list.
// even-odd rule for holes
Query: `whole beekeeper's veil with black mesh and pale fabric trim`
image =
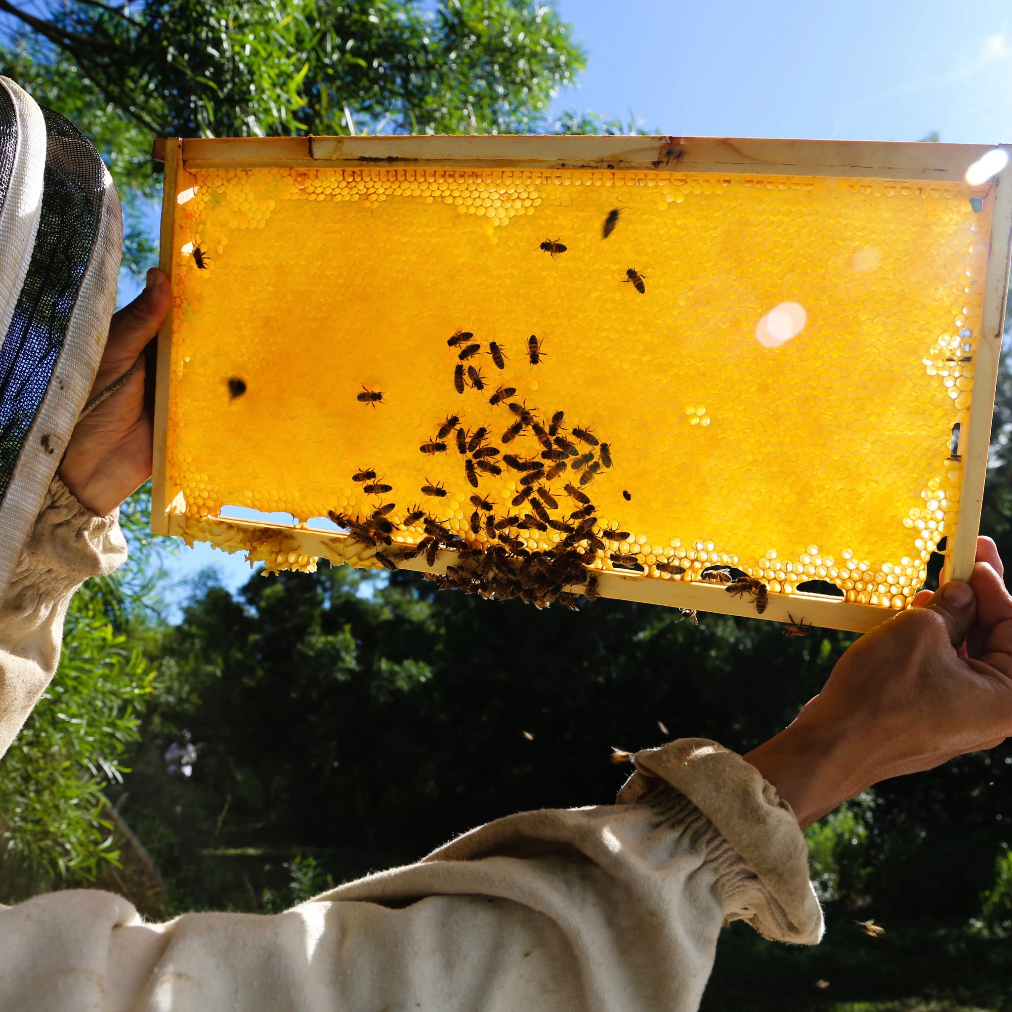
{"label": "whole beekeeper's veil with black mesh and pale fabric trim", "polygon": [[94,382],[121,251],[98,153],[0,77],[0,600]]}

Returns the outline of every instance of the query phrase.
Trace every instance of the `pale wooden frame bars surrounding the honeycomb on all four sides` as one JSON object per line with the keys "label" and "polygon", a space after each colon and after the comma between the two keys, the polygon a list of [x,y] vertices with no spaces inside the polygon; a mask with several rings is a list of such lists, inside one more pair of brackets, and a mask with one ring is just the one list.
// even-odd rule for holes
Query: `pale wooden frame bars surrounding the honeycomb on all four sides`
{"label": "pale wooden frame bars surrounding the honeycomb on all four sides", "polygon": [[[164,162],[162,205],[162,269],[172,276],[172,222],[176,197],[187,185],[188,168],[256,167],[482,167],[621,169],[623,171],[761,172],[764,175],[923,179],[927,182],[963,181],[966,168],[989,147],[981,145],[884,144],[835,141],[769,141],[673,137],[309,137],[223,138],[155,143],[154,157]],[[1006,148],[1012,152],[1012,146]],[[963,460],[960,506],[955,531],[946,550],[943,579],[967,579],[973,570],[987,476],[991,418],[1001,351],[1005,298],[1012,250],[1012,167],[971,195],[988,201],[992,210],[991,245],[985,290],[980,307],[974,395],[968,420],[960,427],[958,452]],[[980,297],[978,297],[980,298]],[[152,531],[192,536],[179,490],[166,484],[165,444],[168,431],[168,394],[171,371],[172,314],[159,333],[156,384],[155,455],[152,487]],[[283,535],[298,555],[340,561],[336,551],[346,535],[284,527],[245,520],[223,520],[236,533],[271,530]],[[232,551],[236,551],[233,547]],[[434,571],[450,561],[443,553]],[[428,572],[421,560],[402,564]],[[746,599],[730,598],[723,588],[704,583],[645,579],[637,575],[604,573],[600,593],[605,597],[657,603],[706,611],[722,594],[720,611],[755,615]],[[830,628],[864,631],[896,614],[890,608],[842,601],[821,595],[771,594],[764,617],[788,620],[800,610],[807,622]],[[707,607],[708,605],[708,607]],[[799,616],[798,616],[799,617]]]}

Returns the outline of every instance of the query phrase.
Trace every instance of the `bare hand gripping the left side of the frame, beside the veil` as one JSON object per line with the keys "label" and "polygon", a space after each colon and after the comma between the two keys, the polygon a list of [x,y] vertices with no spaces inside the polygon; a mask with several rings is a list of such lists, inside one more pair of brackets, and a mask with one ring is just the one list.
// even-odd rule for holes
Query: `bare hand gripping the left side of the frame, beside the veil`
{"label": "bare hand gripping the left side of the frame, beside the veil", "polygon": [[[123,375],[158,333],[169,312],[172,288],[157,267],[148,283],[112,317],[89,400]],[[82,506],[111,513],[151,477],[152,417],[144,397],[144,363],[123,386],[75,426],[60,478]]]}

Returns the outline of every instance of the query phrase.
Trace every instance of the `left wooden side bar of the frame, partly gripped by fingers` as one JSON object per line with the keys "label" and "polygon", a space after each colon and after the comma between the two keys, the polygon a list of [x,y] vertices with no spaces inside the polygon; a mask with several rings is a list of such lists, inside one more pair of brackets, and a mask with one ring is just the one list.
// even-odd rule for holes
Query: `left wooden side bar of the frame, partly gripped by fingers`
{"label": "left wooden side bar of the frame, partly gripped by fingers", "polygon": [[[182,141],[169,138],[165,142],[165,178],[162,189],[162,234],[159,243],[158,266],[172,284],[175,257],[172,247],[175,236],[175,210],[177,179],[182,168]],[[167,481],[167,443],[169,435],[169,377],[172,371],[172,316],[168,315],[158,332],[158,365],[155,373],[155,419],[154,449],[151,479],[151,532],[168,534],[169,524],[166,510],[170,496]]]}

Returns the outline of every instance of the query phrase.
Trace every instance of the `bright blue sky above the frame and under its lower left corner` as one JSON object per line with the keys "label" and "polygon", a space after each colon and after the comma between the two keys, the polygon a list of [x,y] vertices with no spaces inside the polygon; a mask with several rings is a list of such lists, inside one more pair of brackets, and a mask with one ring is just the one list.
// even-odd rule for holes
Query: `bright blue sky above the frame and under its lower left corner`
{"label": "bright blue sky above the frame and under its lower left corner", "polygon": [[[592,109],[662,134],[1012,141],[1012,5],[986,0],[778,4],[559,0],[588,53],[554,111]],[[168,561],[178,599],[205,567],[236,588],[241,557]]]}

